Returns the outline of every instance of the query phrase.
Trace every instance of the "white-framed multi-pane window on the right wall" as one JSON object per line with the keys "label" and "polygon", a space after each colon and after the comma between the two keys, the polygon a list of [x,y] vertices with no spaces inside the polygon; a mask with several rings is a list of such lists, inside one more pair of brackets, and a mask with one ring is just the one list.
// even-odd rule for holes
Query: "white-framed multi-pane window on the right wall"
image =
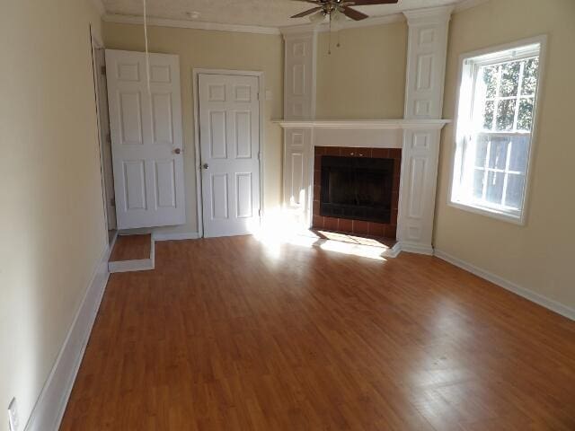
{"label": "white-framed multi-pane window on the right wall", "polygon": [[542,45],[464,57],[453,205],[523,222]]}

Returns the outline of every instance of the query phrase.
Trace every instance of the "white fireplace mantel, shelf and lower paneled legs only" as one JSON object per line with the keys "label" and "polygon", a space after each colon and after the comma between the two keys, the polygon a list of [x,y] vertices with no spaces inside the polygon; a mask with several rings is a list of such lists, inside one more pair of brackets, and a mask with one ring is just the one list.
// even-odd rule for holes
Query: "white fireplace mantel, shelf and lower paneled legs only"
{"label": "white fireplace mantel, shelf and lower paneled legs only", "polygon": [[284,129],[284,209],[312,225],[314,148],[401,148],[397,244],[431,254],[441,129],[447,119],[278,120]]}

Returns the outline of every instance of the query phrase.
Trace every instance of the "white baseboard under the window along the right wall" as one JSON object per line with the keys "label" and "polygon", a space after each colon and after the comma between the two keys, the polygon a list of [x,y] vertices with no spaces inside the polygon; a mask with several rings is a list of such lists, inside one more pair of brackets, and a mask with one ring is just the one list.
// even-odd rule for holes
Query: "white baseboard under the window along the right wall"
{"label": "white baseboard under the window along the right wall", "polygon": [[532,290],[526,289],[525,287],[522,286],[518,286],[516,283],[513,283],[509,280],[506,280],[505,278],[497,276],[489,271],[486,271],[485,269],[476,267],[475,265],[465,262],[462,259],[458,259],[455,256],[446,253],[445,251],[440,251],[436,249],[434,254],[439,259],[445,260],[451,263],[452,265],[455,265],[458,268],[462,268],[468,272],[471,272],[477,277],[481,277],[487,281],[491,281],[491,283],[493,283],[494,285],[503,287],[504,289],[509,290],[509,292],[513,292],[514,294],[519,295],[531,301],[532,303],[536,303],[548,310],[551,310],[552,312],[561,314],[563,317],[571,319],[571,321],[575,321],[575,310],[572,309],[571,307],[563,305],[562,303],[558,303],[557,301],[549,299],[544,295],[536,294]]}

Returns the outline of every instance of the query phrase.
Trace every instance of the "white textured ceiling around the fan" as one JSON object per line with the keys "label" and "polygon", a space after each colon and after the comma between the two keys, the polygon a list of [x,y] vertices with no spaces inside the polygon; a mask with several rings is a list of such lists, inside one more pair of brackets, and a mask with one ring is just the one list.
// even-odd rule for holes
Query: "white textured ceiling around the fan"
{"label": "white textured ceiling around the fan", "polygon": [[[385,16],[422,7],[458,4],[470,0],[399,0],[399,4],[378,4],[358,7],[368,15]],[[102,0],[106,13],[142,15],[142,0]],[[290,19],[314,6],[294,0],[146,0],[151,18],[190,22],[221,22],[226,24],[282,27],[307,23],[306,18]],[[199,13],[198,18],[190,14]]]}

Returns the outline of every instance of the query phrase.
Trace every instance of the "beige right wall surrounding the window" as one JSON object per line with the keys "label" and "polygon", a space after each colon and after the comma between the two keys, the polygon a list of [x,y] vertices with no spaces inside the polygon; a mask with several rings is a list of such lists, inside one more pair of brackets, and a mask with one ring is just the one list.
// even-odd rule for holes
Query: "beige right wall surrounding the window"
{"label": "beige right wall surrounding the window", "polygon": [[518,226],[447,206],[453,128],[443,133],[435,246],[536,294],[575,308],[575,2],[491,0],[451,22],[444,117],[454,118],[461,53],[547,34],[527,222]]}

